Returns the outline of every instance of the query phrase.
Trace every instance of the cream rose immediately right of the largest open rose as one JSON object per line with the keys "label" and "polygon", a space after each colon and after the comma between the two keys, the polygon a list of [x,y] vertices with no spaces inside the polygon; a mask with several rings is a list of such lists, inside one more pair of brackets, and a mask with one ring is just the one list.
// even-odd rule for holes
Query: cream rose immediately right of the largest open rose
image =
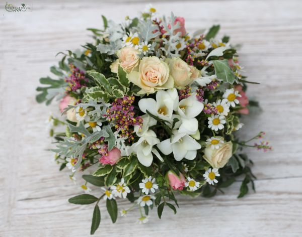
{"label": "cream rose immediately right of the largest open rose", "polygon": [[179,87],[185,87],[192,83],[199,75],[199,70],[193,66],[189,66],[180,58],[172,58],[167,61],[169,63],[171,76],[174,84]]}

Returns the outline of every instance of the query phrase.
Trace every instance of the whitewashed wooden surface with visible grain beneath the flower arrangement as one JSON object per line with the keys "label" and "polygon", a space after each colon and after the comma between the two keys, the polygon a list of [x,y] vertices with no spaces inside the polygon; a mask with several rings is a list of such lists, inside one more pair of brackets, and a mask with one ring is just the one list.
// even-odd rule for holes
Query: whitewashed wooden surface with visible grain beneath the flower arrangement
{"label": "whitewashed wooden surface with visible grain beneath the flower arrangement", "polygon": [[[81,193],[81,183],[74,186],[67,171],[58,172],[46,151],[44,121],[55,106],[37,104],[35,88],[50,74],[56,52],[89,40],[85,29],[101,27],[102,14],[121,21],[145,3],[32,1],[32,12],[8,13],[5,2],[0,10],[0,236],[89,236],[93,206],[67,202]],[[96,236],[302,236],[302,2],[157,1],[154,6],[162,14],[185,17],[189,31],[219,23],[220,35],[243,45],[246,74],[261,82],[250,86],[249,95],[261,101],[263,112],[245,120],[242,137],[266,131],[274,151],[247,151],[255,161],[256,193],[237,199],[238,182],[212,199],[179,196],[177,215],[165,209],[160,221],[154,211],[145,225],[135,224],[136,212],[112,224],[103,206]]]}

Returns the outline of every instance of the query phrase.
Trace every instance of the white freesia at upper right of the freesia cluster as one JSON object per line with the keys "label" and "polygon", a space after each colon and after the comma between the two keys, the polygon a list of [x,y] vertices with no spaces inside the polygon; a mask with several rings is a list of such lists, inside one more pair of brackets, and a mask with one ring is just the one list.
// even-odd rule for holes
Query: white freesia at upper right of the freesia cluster
{"label": "white freesia at upper right of the freesia cluster", "polygon": [[177,112],[181,116],[182,122],[178,132],[188,135],[196,134],[198,130],[198,121],[195,117],[202,109],[203,103],[196,99],[195,94],[186,99],[182,99],[177,107]]}

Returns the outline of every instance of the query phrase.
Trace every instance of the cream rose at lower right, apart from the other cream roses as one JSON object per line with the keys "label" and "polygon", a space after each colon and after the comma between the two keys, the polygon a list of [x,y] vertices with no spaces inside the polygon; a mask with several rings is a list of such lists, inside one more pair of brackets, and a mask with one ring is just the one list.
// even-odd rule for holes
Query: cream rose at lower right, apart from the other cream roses
{"label": "cream rose at lower right, apart from the other cream roses", "polygon": [[219,149],[212,149],[209,144],[204,149],[203,158],[213,167],[222,168],[232,157],[233,144],[232,142],[224,143]]}

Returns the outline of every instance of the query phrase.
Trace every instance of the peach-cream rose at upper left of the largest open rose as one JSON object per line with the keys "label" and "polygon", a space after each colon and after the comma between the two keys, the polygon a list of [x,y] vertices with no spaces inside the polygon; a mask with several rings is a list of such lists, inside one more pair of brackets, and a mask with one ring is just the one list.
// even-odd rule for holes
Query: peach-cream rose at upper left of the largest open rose
{"label": "peach-cream rose at upper left of the largest open rose", "polygon": [[132,47],[124,47],[116,52],[118,59],[110,65],[111,72],[117,73],[118,66],[127,72],[138,69],[139,57],[138,51]]}

